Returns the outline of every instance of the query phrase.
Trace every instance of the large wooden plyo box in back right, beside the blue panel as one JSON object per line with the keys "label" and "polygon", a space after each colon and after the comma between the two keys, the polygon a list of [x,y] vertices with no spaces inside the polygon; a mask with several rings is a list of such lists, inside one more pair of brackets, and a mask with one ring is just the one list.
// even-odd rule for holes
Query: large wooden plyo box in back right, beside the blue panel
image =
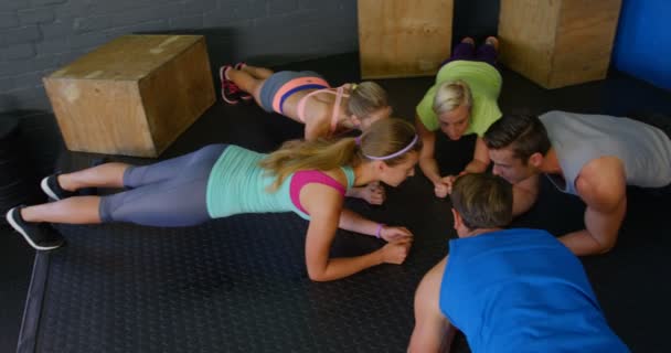
{"label": "large wooden plyo box in back right, beside the blue panel", "polygon": [[606,77],[621,0],[501,0],[500,61],[545,88]]}

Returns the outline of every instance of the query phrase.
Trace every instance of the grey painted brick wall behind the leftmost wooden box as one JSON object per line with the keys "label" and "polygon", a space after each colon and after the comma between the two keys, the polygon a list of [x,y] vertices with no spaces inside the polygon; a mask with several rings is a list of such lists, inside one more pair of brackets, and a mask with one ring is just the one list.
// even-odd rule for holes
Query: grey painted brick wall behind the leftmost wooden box
{"label": "grey painted brick wall behind the leftmost wooden box", "polygon": [[41,77],[124,34],[205,34],[213,66],[353,52],[356,0],[1,0],[0,113],[51,110]]}

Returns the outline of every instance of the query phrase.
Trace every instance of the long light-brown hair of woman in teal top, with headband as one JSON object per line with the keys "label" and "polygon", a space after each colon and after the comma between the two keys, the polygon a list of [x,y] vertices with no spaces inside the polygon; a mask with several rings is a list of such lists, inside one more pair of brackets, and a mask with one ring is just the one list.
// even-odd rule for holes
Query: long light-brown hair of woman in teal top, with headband
{"label": "long light-brown hair of woman in teal top, with headband", "polygon": [[[343,165],[356,167],[370,160],[366,156],[384,157],[401,151],[415,137],[415,128],[409,122],[396,118],[381,119],[373,122],[360,138],[287,141],[279,150],[264,158],[259,165],[276,175],[277,179],[270,185],[270,190],[275,191],[294,172],[328,171]],[[384,162],[390,167],[396,165],[407,158],[408,152],[419,149],[422,143],[417,141],[407,152],[385,159]]]}

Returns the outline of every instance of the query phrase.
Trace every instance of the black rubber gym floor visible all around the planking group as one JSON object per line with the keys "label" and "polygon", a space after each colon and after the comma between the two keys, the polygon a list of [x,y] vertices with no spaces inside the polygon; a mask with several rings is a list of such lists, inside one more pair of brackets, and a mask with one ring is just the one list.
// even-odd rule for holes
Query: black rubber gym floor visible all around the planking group
{"label": "black rubber gym floor visible all around the planking group", "polygon": [[[345,55],[290,68],[316,69],[347,82],[356,79],[355,62]],[[625,104],[631,84],[621,76],[603,86],[546,92],[509,71],[503,74],[508,88],[501,106],[507,111],[522,106],[532,113],[622,115],[629,109]],[[430,82],[430,77],[391,79],[383,86],[395,111],[411,119]],[[667,104],[668,96],[659,99]],[[219,103],[161,158],[212,142],[269,151],[301,132],[302,126],[255,106]],[[445,171],[459,171],[472,156],[472,138],[438,141],[446,153],[440,158]],[[449,202],[436,200],[420,173],[398,189],[387,189],[387,195],[383,206],[361,201],[348,205],[413,231],[415,242],[406,263],[323,284],[307,277],[307,223],[292,214],[238,215],[189,228],[60,226],[67,246],[35,258],[18,351],[404,352],[414,325],[416,286],[447,254],[447,242],[456,235]],[[608,322],[633,352],[671,350],[665,339],[671,314],[670,202],[669,195],[629,190],[616,248],[582,258]],[[543,179],[537,204],[514,225],[561,235],[583,227],[583,212],[576,197],[555,191]],[[371,237],[340,232],[332,252],[355,255],[381,245]],[[454,351],[468,352],[462,336]]]}

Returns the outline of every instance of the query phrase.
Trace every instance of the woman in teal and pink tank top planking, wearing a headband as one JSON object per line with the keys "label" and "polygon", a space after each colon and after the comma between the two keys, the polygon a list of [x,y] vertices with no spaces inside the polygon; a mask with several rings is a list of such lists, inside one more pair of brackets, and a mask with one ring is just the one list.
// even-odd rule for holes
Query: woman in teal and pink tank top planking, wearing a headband
{"label": "woman in teal and pink tank top planking, wearing a headband", "polygon": [[[46,176],[42,189],[56,202],[18,206],[7,220],[39,250],[63,237],[47,223],[131,222],[150,226],[196,225],[238,213],[294,211],[308,218],[306,264],[310,279],[333,280],[383,263],[402,264],[413,234],[343,207],[348,188],[382,181],[397,186],[414,174],[422,143],[413,126],[382,119],[360,138],[289,141],[270,154],[211,145],[150,165],[106,163]],[[106,196],[78,196],[84,188],[127,188]],[[356,257],[330,258],[338,228],[387,242]]]}

